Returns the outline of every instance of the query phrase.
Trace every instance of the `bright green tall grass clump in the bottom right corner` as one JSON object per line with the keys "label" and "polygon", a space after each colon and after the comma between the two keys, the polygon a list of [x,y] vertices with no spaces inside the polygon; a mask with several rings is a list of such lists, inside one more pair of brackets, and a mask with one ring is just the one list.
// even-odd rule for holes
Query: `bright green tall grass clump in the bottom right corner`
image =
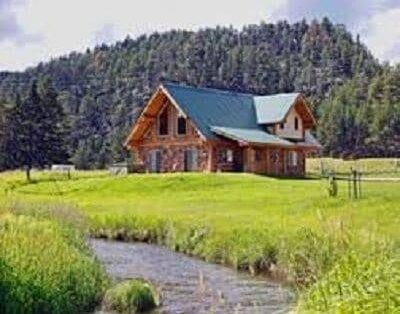
{"label": "bright green tall grass clump in the bottom right corner", "polygon": [[299,312],[399,313],[399,252],[348,252],[299,302]]}

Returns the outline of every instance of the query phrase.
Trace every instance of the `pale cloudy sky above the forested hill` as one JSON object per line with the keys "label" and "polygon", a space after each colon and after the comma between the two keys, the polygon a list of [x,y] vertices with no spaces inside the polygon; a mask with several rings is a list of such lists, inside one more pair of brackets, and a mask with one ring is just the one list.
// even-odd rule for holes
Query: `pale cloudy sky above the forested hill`
{"label": "pale cloudy sky above the forested hill", "polygon": [[381,61],[400,62],[400,0],[0,0],[0,71],[127,35],[328,16]]}

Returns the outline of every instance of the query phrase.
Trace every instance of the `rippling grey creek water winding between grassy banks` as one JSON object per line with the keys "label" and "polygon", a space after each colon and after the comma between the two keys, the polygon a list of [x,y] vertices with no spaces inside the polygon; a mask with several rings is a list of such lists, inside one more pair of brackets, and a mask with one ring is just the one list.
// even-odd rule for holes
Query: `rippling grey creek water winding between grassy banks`
{"label": "rippling grey creek water winding between grassy banks", "polygon": [[143,278],[161,289],[152,313],[287,313],[290,292],[265,278],[144,243],[90,240],[116,280]]}

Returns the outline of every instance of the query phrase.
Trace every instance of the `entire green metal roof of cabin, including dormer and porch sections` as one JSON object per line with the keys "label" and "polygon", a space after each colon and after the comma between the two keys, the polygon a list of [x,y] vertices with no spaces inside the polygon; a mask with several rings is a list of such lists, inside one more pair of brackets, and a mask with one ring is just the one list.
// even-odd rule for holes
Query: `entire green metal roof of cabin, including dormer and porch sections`
{"label": "entire green metal roof of cabin, including dormer and porch sections", "polygon": [[173,83],[163,87],[206,138],[218,134],[249,143],[291,144],[267,133],[260,124],[281,121],[299,94],[255,96]]}

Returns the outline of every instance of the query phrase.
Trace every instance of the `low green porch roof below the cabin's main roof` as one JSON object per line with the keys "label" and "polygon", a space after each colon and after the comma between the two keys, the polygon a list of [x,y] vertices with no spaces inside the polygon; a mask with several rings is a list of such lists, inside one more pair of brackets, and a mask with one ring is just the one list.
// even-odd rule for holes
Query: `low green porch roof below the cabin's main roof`
{"label": "low green porch roof below the cabin's main roof", "polygon": [[234,141],[241,141],[250,144],[271,144],[293,146],[293,143],[278,136],[269,134],[261,129],[239,129],[213,126],[211,130],[218,135]]}

